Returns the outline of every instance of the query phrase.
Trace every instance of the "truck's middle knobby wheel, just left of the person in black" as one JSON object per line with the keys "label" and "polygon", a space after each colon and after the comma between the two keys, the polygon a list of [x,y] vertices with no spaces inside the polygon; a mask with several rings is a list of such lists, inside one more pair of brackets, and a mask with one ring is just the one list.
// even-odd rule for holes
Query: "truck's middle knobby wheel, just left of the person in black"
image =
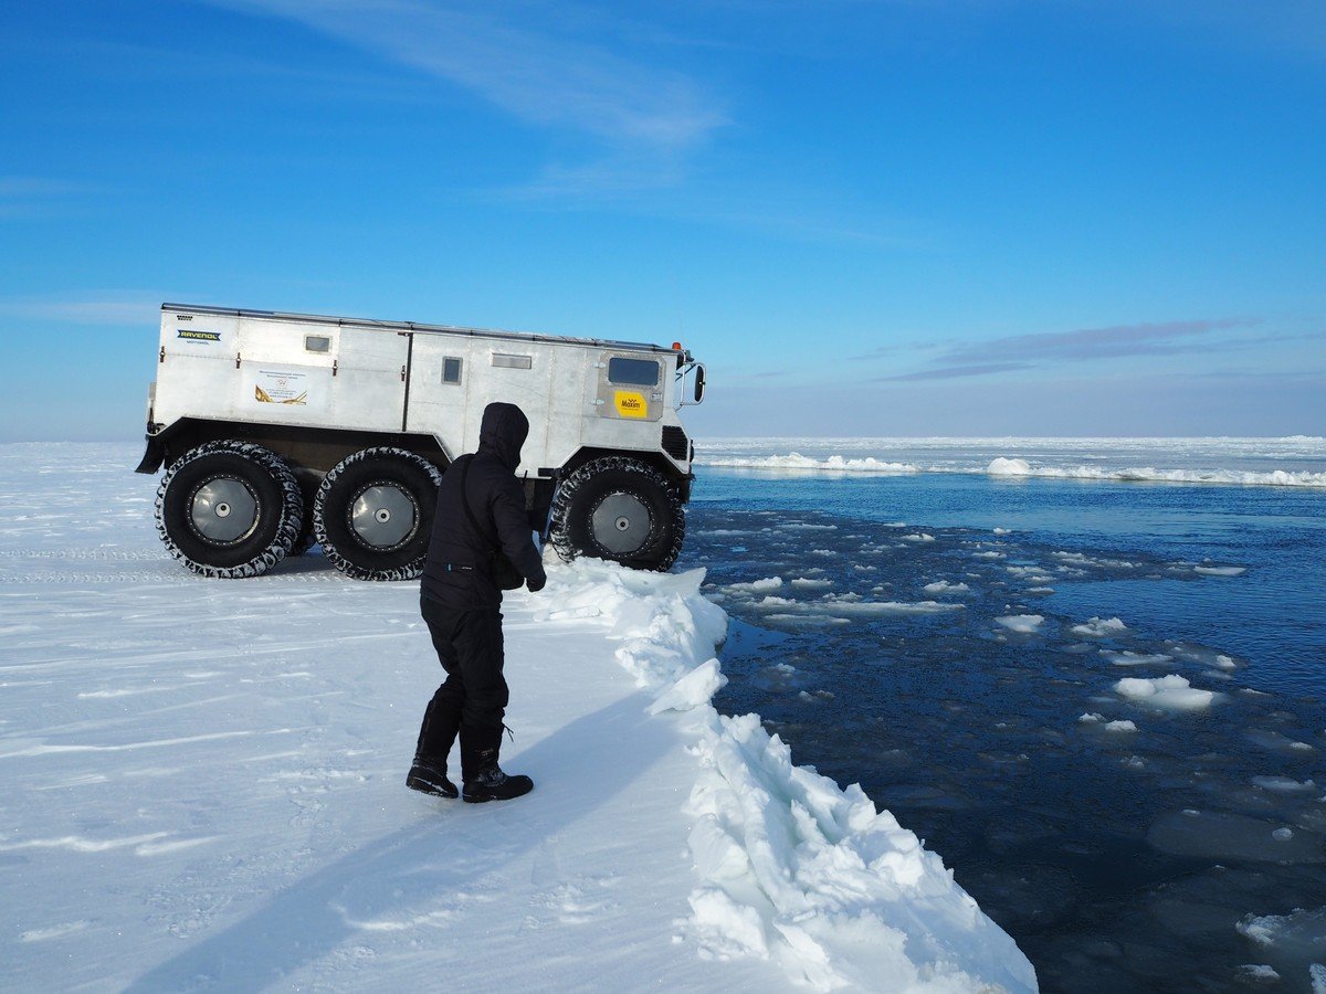
{"label": "truck's middle knobby wheel, just left of the person in black", "polygon": [[440,482],[438,468],[414,452],[355,452],[318,486],[313,534],[351,579],[415,579],[428,554]]}

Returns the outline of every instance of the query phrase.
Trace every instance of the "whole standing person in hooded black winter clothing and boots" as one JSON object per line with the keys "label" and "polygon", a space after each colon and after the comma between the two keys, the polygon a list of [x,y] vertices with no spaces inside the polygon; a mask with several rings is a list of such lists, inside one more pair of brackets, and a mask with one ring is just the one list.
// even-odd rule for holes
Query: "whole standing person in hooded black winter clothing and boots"
{"label": "whole standing person in hooded black winter clothing and boots", "polygon": [[426,794],[457,795],[447,779],[447,755],[457,733],[465,801],[505,801],[534,787],[529,777],[508,777],[497,765],[508,689],[501,588],[493,579],[493,551],[500,545],[530,591],[548,582],[525,513],[525,490],[514,476],[528,435],[529,420],[518,407],[488,404],[479,451],[452,463],[438,488],[419,608],[447,680],[424,712],[406,777],[408,787]]}

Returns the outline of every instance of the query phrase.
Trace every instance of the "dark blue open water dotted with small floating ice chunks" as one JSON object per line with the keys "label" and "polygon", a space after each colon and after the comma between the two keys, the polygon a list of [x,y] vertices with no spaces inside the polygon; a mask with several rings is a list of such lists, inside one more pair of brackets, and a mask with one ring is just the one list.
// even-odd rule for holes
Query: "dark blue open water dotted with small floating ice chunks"
{"label": "dark blue open water dotted with small floating ice chunks", "polygon": [[[1311,990],[1326,492],[699,472],[720,709],[916,831],[1045,990]],[[1116,689],[1167,676],[1216,697]]]}

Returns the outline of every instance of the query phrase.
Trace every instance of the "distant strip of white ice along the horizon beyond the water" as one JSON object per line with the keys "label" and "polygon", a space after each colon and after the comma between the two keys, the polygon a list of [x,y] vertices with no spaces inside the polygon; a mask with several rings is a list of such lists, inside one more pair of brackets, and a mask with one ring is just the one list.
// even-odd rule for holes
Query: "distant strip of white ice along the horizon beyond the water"
{"label": "distant strip of white ice along the horizon beyond the water", "polygon": [[700,439],[711,467],[1326,488],[1326,437]]}

